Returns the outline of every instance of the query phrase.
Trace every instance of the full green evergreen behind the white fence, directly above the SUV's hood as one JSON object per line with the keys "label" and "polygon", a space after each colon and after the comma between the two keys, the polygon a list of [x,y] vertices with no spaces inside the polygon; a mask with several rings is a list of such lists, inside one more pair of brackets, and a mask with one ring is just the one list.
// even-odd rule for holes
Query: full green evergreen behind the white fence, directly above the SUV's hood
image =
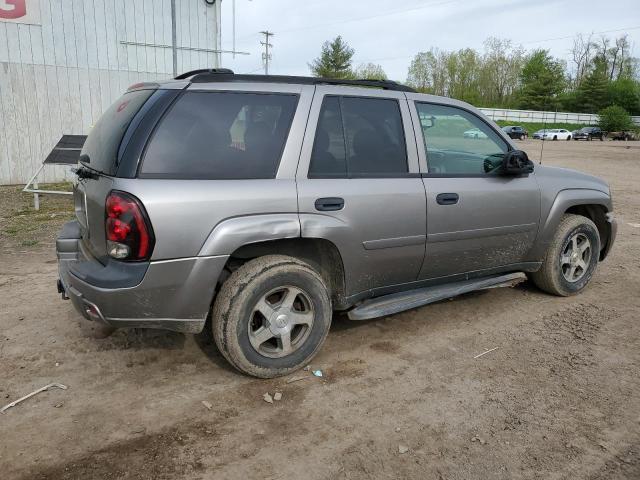
{"label": "full green evergreen behind the white fence, directly above the SUV's hood", "polygon": [[564,65],[548,50],[535,50],[520,72],[518,106],[532,110],[555,107],[555,99],[565,87]]}

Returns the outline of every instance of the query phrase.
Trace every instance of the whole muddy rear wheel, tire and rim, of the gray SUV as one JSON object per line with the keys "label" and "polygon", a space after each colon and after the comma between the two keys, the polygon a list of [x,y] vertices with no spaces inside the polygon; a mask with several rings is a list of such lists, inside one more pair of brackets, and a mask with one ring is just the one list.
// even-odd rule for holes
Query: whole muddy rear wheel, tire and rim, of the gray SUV
{"label": "whole muddy rear wheel, tire and rim, of the gray SUV", "polygon": [[267,255],[245,263],[222,285],[211,324],[231,365],[273,378],[309,363],[331,317],[328,289],[315,270],[293,257]]}

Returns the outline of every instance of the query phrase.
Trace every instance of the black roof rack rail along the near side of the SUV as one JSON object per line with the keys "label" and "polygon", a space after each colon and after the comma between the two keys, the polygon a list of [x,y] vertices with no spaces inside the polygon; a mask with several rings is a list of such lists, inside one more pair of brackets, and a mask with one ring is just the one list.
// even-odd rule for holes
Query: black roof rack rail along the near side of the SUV
{"label": "black roof rack rail along the near side of the SUV", "polygon": [[415,92],[415,90],[392,80],[347,80],[341,78],[298,77],[289,75],[244,75],[234,74],[225,68],[211,70],[194,70],[183,73],[176,79],[191,78],[192,83],[207,82],[265,82],[265,83],[294,83],[300,85],[350,85],[354,87],[382,88],[399,92]]}

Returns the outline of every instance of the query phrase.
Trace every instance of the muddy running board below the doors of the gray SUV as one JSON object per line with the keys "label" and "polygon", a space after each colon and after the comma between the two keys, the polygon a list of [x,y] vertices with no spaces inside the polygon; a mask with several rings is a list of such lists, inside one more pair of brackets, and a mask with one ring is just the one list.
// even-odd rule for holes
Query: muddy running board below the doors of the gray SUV
{"label": "muddy running board below the doors of the gray SUV", "polygon": [[348,316],[351,320],[369,320],[370,318],[385,317],[412,308],[422,307],[429,303],[446,300],[463,293],[487,288],[512,286],[525,278],[522,273],[510,273],[493,277],[476,278],[460,282],[446,283],[432,287],[417,288],[407,292],[391,293],[378,298],[365,300]]}

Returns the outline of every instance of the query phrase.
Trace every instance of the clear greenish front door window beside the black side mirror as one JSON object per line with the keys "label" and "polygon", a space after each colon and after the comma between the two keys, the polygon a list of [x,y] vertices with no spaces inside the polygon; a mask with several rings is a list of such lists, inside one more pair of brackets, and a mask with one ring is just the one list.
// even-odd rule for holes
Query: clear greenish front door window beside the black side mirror
{"label": "clear greenish front door window beside the black side mirror", "polygon": [[429,173],[498,173],[507,143],[480,118],[457,107],[416,103]]}

